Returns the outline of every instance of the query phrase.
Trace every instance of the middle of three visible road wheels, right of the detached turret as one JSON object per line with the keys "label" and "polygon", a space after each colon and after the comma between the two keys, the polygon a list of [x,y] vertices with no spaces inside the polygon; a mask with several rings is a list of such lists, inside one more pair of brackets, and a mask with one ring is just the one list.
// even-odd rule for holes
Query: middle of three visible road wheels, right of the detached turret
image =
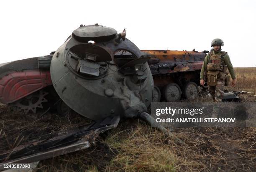
{"label": "middle of three visible road wheels, right of the detached turret", "polygon": [[167,102],[177,102],[181,97],[182,91],[177,83],[170,83],[164,89],[164,96]]}

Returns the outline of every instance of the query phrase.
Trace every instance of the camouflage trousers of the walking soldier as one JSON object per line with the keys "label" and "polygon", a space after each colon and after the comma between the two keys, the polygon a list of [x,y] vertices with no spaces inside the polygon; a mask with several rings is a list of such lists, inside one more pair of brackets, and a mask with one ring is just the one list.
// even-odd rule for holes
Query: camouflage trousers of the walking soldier
{"label": "camouflage trousers of the walking soldier", "polygon": [[213,101],[215,101],[216,103],[221,102],[223,99],[224,84],[225,80],[222,78],[218,78],[216,86],[208,86],[209,93],[211,94]]}

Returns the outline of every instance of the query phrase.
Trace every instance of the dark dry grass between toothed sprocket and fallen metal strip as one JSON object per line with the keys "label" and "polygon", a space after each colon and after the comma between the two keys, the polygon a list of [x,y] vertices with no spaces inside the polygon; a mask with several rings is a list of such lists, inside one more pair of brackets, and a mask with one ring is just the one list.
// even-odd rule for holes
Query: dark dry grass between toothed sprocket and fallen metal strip
{"label": "dark dry grass between toothed sprocket and fallen metal strip", "polygon": [[47,113],[41,117],[42,113],[15,114],[6,105],[0,104],[0,154],[27,139],[91,122],[76,113],[66,117]]}

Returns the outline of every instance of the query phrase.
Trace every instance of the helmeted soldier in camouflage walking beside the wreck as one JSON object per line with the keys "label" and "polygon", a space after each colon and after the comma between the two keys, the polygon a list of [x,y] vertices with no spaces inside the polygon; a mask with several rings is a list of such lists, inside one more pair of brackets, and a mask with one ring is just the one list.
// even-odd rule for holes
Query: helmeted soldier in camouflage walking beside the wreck
{"label": "helmeted soldier in camouflage walking beside the wreck", "polygon": [[221,46],[224,46],[221,39],[212,40],[213,51],[205,57],[200,73],[202,86],[205,85],[204,74],[207,74],[208,90],[216,103],[222,101],[224,86],[228,85],[230,79],[226,72],[227,68],[232,78],[231,86],[236,85],[236,74],[230,58],[227,52],[221,51]]}

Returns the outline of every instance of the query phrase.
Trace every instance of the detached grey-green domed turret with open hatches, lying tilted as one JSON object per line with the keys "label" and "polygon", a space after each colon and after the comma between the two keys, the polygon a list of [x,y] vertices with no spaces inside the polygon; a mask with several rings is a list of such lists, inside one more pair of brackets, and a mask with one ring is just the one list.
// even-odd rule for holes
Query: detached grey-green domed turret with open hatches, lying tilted
{"label": "detached grey-green domed turret with open hatches, lying tilted", "polygon": [[148,57],[125,34],[81,25],[54,53],[54,89],[77,113],[93,120],[136,117],[151,104],[154,81]]}

